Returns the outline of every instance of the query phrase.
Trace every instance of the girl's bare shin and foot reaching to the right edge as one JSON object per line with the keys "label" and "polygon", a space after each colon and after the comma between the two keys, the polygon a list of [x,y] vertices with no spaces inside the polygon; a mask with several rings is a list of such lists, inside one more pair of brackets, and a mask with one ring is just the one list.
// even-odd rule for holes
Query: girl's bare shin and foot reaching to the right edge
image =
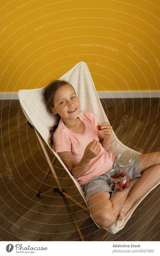
{"label": "girl's bare shin and foot reaching to the right edge", "polygon": [[160,164],[153,165],[143,172],[142,176],[137,180],[133,188],[128,193],[124,204],[119,212],[117,220],[122,219],[132,205],[149,190],[160,179]]}

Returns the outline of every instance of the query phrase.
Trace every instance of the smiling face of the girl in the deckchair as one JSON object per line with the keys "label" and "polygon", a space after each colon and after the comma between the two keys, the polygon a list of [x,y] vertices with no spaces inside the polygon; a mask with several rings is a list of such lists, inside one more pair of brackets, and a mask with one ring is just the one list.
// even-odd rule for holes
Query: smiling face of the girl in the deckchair
{"label": "smiling face of the girl in the deckchair", "polygon": [[[70,113],[73,109],[76,110]],[[58,113],[62,119],[77,118],[80,112],[80,102],[70,85],[66,84],[56,91],[51,110],[55,115]]]}

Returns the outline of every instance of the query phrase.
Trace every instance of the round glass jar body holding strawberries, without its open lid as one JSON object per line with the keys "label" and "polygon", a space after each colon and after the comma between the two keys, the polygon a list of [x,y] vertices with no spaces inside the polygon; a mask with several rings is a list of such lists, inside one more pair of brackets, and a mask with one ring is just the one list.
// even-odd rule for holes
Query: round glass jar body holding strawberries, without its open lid
{"label": "round glass jar body holding strawberries, without its open lid", "polygon": [[124,191],[130,185],[127,170],[123,167],[112,168],[108,172],[108,183],[113,192]]}

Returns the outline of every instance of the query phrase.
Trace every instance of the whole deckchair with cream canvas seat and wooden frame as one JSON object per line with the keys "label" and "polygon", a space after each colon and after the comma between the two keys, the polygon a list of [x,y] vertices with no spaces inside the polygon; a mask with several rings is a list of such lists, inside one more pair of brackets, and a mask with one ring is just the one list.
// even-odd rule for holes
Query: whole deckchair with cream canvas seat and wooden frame
{"label": "whole deckchair with cream canvas seat and wooden frame", "polygon": [[[56,78],[57,79],[57,78]],[[59,80],[66,80],[70,82],[78,96],[78,99],[80,100],[80,106],[81,106],[81,111],[90,111],[99,116],[99,123],[103,122],[109,122],[107,119],[107,116],[104,112],[104,109],[101,105],[101,101],[99,99],[98,93],[95,89],[95,85],[93,83],[91,74],[89,72],[88,66],[85,62],[81,61],[77,63],[73,68],[71,68],[66,74],[64,74],[62,77],[59,78]],[[56,116],[53,115],[53,118],[51,115],[47,112],[46,109],[46,102],[45,99],[42,95],[43,88],[38,88],[38,89],[31,89],[31,90],[19,90],[18,91],[18,98],[22,107],[22,110],[24,112],[24,115],[27,118],[27,123],[29,124],[30,128],[32,128],[35,132],[35,135],[38,138],[38,141],[41,145],[41,148],[44,152],[44,156],[48,162],[49,169],[47,170],[44,179],[42,180],[42,183],[36,193],[37,196],[42,197],[44,195],[47,195],[51,192],[58,192],[64,201],[64,204],[68,210],[68,213],[70,214],[71,220],[73,221],[73,224],[75,226],[76,231],[78,232],[78,235],[82,241],[84,241],[83,235],[77,225],[77,222],[74,218],[74,215],[71,211],[71,208],[68,204],[68,200],[71,201],[72,203],[76,204],[77,207],[79,207],[81,210],[84,210],[89,216],[91,216],[93,223],[97,228],[100,228],[97,223],[95,223],[87,202],[85,198],[85,193],[83,189],[81,188],[80,184],[74,179],[74,177],[71,175],[61,158],[59,157],[58,153],[56,153],[54,150],[51,149],[51,147],[48,144],[48,137],[49,137],[49,127],[53,125],[57,125],[56,123]],[[43,141],[41,137],[44,139],[48,147],[50,148],[51,152],[53,152],[53,159],[50,160],[47,151],[44,147]],[[36,138],[35,138],[36,139]],[[139,153],[124,144],[122,144],[121,141],[116,137],[114,131],[111,136],[111,141],[112,144],[110,146],[110,151],[113,153],[113,155],[118,156],[119,153],[122,153],[125,150],[130,150],[131,152],[134,153]],[[139,153],[141,154],[141,153]],[[62,166],[65,168],[66,172],[68,172],[68,175],[71,177],[73,180],[74,184],[76,185],[78,191],[82,195],[84,201],[86,202],[86,207],[76,201],[74,198],[72,198],[66,191],[62,189],[62,186],[60,185],[59,179],[57,178],[56,172],[54,170],[54,163],[56,159],[59,160],[59,162],[62,164]],[[41,193],[41,188],[44,183],[44,181],[47,178],[47,175],[49,172],[53,173],[53,177],[56,181],[57,187],[54,187],[43,194]],[[140,204],[140,202],[149,194],[152,189],[154,189],[160,182],[157,182],[152,188],[150,188],[145,194],[143,194],[136,202],[135,204],[131,207],[131,209],[128,211],[128,213],[121,219],[121,220],[116,220],[116,222],[113,224],[111,227],[104,228],[105,232],[102,235],[102,237],[99,239],[99,241],[103,241],[106,237],[107,234],[115,234],[119,230],[123,229],[129,218],[131,217],[132,213],[136,209],[136,207]],[[67,189],[66,189],[67,190]]]}

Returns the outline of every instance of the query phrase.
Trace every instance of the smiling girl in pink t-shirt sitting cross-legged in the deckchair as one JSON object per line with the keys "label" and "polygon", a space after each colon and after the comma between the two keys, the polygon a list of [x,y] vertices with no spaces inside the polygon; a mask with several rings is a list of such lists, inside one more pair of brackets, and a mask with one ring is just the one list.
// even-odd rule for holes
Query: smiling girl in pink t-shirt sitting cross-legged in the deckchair
{"label": "smiling girl in pink t-shirt sitting cross-legged in the deckchair", "polygon": [[104,122],[97,126],[98,115],[80,111],[80,102],[73,86],[55,80],[44,89],[47,110],[57,118],[50,130],[49,144],[86,194],[86,201],[94,221],[100,227],[110,227],[122,219],[132,205],[160,176],[160,152],[135,154],[128,169],[131,180],[125,191],[113,193],[108,184],[108,171],[117,167],[116,157],[109,150],[112,126]]}

